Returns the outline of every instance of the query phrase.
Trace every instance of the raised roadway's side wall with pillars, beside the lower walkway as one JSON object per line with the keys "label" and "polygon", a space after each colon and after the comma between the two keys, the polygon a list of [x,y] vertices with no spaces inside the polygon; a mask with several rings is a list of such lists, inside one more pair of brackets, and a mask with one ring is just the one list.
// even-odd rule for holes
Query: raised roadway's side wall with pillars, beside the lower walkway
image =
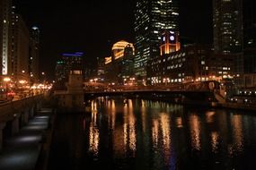
{"label": "raised roadway's side wall with pillars, beside the lower walkway", "polygon": [[40,108],[42,95],[9,101],[0,105],[0,149],[3,140],[19,132]]}

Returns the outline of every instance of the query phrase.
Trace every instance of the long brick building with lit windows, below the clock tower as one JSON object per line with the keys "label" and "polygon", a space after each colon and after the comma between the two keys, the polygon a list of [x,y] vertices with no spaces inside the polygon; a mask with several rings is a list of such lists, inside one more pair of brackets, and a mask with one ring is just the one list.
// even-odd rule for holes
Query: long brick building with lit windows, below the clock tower
{"label": "long brick building with lit windows, below the clock tower", "polygon": [[167,85],[191,81],[220,81],[233,77],[232,55],[216,55],[210,47],[192,45],[148,61],[147,81]]}

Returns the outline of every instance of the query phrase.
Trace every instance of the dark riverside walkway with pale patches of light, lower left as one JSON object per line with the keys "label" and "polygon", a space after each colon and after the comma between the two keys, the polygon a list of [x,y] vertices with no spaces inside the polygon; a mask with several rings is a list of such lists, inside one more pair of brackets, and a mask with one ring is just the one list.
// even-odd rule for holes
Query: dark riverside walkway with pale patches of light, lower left
{"label": "dark riverside walkway with pale patches of light, lower left", "polygon": [[40,109],[20,132],[4,141],[4,148],[0,151],[1,170],[36,169],[44,144],[47,143],[51,115],[51,109]]}

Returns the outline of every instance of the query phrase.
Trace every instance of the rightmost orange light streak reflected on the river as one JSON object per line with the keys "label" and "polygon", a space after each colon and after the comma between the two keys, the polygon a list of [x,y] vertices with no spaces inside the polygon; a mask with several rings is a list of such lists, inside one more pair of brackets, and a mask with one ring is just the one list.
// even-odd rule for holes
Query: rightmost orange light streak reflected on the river
{"label": "rightmost orange light streak reflected on the river", "polygon": [[243,151],[243,122],[242,115],[231,116],[232,130],[233,130],[233,150]]}

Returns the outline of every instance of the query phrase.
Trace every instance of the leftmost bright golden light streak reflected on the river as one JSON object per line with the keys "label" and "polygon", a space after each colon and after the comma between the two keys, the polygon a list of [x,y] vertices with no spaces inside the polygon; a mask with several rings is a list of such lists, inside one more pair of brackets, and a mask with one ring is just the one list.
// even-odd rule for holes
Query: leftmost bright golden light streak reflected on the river
{"label": "leftmost bright golden light streak reflected on the river", "polygon": [[89,151],[93,152],[94,156],[99,154],[99,142],[100,142],[100,132],[97,127],[97,113],[92,112],[92,122],[90,123],[89,132]]}

